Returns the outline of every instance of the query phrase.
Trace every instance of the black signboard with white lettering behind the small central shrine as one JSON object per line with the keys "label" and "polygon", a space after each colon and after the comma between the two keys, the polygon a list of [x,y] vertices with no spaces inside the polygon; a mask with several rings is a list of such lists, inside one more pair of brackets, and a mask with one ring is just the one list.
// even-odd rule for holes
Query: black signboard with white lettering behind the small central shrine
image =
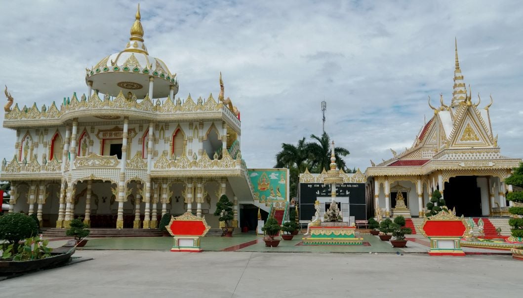
{"label": "black signboard with white lettering behind the small central shrine", "polygon": [[[366,220],[365,183],[344,183],[336,186],[337,197],[349,198],[349,215],[355,220]],[[316,210],[317,197],[331,197],[331,185],[300,183],[300,220],[311,220]]]}

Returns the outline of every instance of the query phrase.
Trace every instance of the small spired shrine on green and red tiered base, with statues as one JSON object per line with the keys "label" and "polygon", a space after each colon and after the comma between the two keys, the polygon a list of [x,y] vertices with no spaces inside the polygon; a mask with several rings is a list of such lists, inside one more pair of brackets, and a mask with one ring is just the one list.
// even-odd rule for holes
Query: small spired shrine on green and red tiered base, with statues
{"label": "small spired shrine on green and red tiered base, with statues", "polygon": [[331,185],[331,204],[325,209],[323,220],[320,216],[321,204],[314,202],[315,219],[307,225],[307,233],[302,239],[304,245],[362,245],[363,238],[356,237],[356,226],[350,221],[344,221],[342,211],[336,202],[336,185],[343,183],[343,177],[336,168],[334,142],[331,144],[331,169],[327,171],[324,184]]}

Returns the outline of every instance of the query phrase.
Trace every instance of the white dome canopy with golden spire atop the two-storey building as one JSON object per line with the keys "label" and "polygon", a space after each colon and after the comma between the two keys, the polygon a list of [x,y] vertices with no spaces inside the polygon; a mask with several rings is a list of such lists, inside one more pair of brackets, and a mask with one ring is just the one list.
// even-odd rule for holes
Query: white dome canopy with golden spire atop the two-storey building
{"label": "white dome canopy with golden spire atop the two-storey building", "polygon": [[152,98],[164,98],[169,95],[169,89],[178,93],[176,74],[172,74],[165,63],[149,55],[143,40],[140,5],[131,27],[131,37],[124,50],[105,56],[91,69],[86,68],[85,81],[92,82],[93,89],[103,94],[117,96],[120,90],[124,95],[129,92],[138,99],[144,98],[149,92],[149,82],[154,79]]}

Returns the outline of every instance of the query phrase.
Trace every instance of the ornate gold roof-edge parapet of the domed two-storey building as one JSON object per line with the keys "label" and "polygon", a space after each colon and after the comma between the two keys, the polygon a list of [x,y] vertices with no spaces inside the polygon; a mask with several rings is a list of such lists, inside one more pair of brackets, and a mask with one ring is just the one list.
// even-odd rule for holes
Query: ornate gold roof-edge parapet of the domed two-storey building
{"label": "ornate gold roof-edge parapet of the domed two-storey building", "polygon": [[173,102],[169,97],[163,102],[156,99],[153,103],[149,97],[138,102],[124,97],[120,92],[113,99],[105,96],[103,100],[96,94],[89,99],[84,95],[78,100],[75,93],[72,99],[64,100],[60,109],[56,107],[55,102],[49,108],[44,105],[40,109],[36,103],[29,108],[24,106],[22,109],[16,104],[11,111],[5,113],[4,127],[50,127],[62,125],[74,118],[96,117],[103,121],[121,119],[122,116],[161,122],[221,120],[236,131],[240,131],[241,126],[238,117],[228,107],[215,101],[212,95],[205,102],[201,97],[195,102],[189,95],[182,104],[180,99]]}

